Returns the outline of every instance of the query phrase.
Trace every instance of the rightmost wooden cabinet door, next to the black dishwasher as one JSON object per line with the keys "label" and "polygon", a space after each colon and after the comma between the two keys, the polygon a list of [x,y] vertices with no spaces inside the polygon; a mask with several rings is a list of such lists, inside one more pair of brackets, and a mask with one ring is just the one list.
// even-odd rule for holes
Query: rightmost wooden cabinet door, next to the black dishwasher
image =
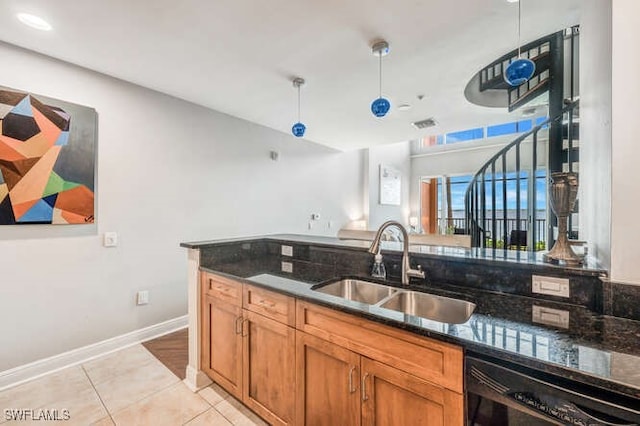
{"label": "rightmost wooden cabinet door, next to the black dishwasher", "polygon": [[362,358],[363,425],[462,426],[462,395]]}

